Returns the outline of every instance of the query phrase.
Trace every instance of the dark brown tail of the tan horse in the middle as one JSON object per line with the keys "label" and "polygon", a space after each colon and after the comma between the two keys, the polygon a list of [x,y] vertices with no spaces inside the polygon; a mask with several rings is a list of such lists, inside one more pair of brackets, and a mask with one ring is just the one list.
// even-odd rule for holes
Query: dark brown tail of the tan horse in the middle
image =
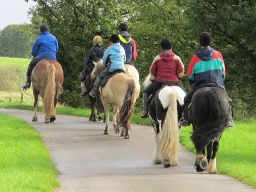
{"label": "dark brown tail of the tan horse in the middle", "polygon": [[128,89],[125,95],[124,104],[117,115],[118,127],[127,127],[127,130],[131,129],[131,116],[135,104],[135,83],[134,79],[129,78]]}

